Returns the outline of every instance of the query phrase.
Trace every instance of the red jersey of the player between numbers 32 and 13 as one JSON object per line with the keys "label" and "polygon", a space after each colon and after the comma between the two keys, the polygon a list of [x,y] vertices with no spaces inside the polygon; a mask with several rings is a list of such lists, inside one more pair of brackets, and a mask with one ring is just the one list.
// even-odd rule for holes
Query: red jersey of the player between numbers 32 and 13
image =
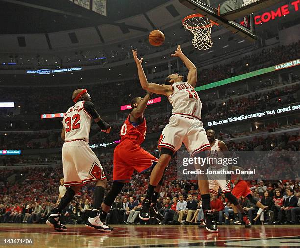
{"label": "red jersey of the player between numbers 32 and 13", "polygon": [[124,124],[121,127],[120,130],[121,142],[124,141],[125,139],[134,139],[140,145],[143,143],[146,136],[146,129],[147,129],[146,120],[143,117],[142,123],[135,126],[134,123],[130,122],[129,118],[130,118],[130,114],[128,115],[127,119],[125,120]]}

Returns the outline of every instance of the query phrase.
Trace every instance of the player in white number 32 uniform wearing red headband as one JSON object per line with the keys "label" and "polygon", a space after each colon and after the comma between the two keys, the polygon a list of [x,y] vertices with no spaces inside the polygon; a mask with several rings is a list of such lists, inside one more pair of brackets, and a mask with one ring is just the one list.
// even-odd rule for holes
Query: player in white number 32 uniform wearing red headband
{"label": "player in white number 32 uniform wearing red headband", "polygon": [[110,132],[111,127],[101,119],[95,110],[87,90],[75,90],[72,94],[72,100],[75,104],[64,114],[61,132],[61,138],[65,141],[62,148],[64,185],[68,189],[64,197],[61,198],[59,205],[51,211],[46,224],[56,231],[66,231],[67,228],[60,223],[60,212],[71,202],[73,196],[84,184],[96,181],[94,206],[86,226],[99,231],[110,232],[112,228],[104,225],[99,218],[107,180],[100,161],[89,147],[88,142],[92,119],[106,133]]}

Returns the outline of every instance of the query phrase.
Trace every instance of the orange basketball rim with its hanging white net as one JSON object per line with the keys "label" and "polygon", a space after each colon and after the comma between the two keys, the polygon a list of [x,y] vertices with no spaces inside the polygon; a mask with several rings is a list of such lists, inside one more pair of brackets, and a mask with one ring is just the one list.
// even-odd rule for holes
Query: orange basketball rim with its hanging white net
{"label": "orange basketball rim with its hanging white net", "polygon": [[213,43],[211,41],[211,27],[213,23],[208,18],[191,16],[183,20],[185,29],[194,34],[193,46],[198,50],[209,49]]}

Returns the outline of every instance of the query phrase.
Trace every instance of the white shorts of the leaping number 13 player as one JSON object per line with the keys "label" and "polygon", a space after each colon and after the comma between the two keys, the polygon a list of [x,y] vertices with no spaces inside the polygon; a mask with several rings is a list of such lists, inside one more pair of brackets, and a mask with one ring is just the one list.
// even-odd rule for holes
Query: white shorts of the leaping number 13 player
{"label": "white shorts of the leaping number 13 player", "polygon": [[194,118],[172,115],[158,142],[158,148],[169,148],[175,153],[184,143],[191,157],[210,150],[202,121]]}

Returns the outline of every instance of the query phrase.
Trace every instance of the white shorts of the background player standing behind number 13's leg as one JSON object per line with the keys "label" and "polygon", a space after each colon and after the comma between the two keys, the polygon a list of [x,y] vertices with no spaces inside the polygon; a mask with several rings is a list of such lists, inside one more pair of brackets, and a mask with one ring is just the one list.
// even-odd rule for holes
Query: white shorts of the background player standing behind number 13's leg
{"label": "white shorts of the background player standing behind number 13's leg", "polygon": [[[210,170],[210,171],[227,170],[227,167],[223,166],[219,169],[208,168],[208,170]],[[217,194],[219,187],[221,188],[223,193],[231,192],[230,188],[229,188],[230,181],[226,180],[226,174],[218,174],[218,175],[207,174],[207,179],[209,182],[210,192]]]}

